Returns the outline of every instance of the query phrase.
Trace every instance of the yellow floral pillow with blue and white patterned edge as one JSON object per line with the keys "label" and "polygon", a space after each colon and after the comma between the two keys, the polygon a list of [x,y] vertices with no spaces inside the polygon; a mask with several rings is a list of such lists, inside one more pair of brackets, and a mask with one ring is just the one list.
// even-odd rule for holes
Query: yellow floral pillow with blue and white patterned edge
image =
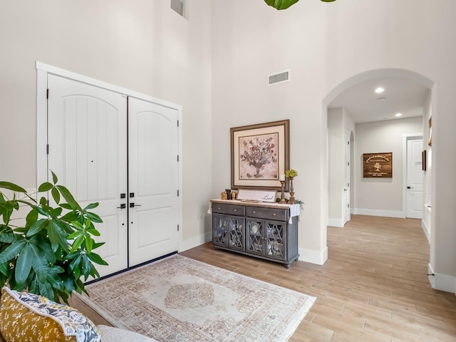
{"label": "yellow floral pillow with blue and white patterned edge", "polygon": [[1,289],[0,333],[6,342],[100,342],[93,323],[76,309],[36,294]]}

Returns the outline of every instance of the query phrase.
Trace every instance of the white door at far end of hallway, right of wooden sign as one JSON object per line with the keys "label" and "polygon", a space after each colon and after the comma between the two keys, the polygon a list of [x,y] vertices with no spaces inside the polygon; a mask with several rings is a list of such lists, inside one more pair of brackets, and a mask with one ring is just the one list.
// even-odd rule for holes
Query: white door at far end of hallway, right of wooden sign
{"label": "white door at far end of hallway, right of wooden sign", "polygon": [[407,217],[423,218],[423,140],[407,140]]}

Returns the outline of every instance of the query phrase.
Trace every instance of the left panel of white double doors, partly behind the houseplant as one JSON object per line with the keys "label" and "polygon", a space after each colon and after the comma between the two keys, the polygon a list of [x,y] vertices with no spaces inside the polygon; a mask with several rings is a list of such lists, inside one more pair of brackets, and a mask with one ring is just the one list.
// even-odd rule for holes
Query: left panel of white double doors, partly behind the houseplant
{"label": "left panel of white double doors, partly behind the houseplant", "polygon": [[[103,223],[96,224],[106,242],[94,252],[109,266],[97,266],[101,276],[126,269],[127,105],[119,93],[48,75],[48,167],[61,184]],[[96,266],[96,265],[95,265]]]}

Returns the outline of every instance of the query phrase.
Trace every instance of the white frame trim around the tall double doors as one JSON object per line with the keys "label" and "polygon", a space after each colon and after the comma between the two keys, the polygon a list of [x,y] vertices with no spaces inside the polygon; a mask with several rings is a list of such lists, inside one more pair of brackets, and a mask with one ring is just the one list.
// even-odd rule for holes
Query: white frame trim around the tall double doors
{"label": "white frame trim around the tall double doors", "polygon": [[[162,105],[177,110],[177,118],[179,120],[178,135],[179,135],[179,209],[178,209],[178,224],[179,224],[179,237],[177,251],[180,252],[182,244],[182,230],[184,229],[182,224],[182,106],[175,105],[174,103],[167,102],[153,98],[152,96],[137,93],[133,90],[115,86],[110,83],[96,80],[87,76],[79,75],[55,66],[49,66],[48,64],[36,61],[36,187],[41,185],[43,182],[48,182],[48,156],[47,156],[47,144],[48,144],[48,104],[47,104],[47,89],[48,89],[48,74],[54,74],[65,78],[70,78],[74,81],[88,83],[92,86],[105,88],[117,93],[124,94],[125,96],[132,96],[140,98],[157,105]],[[125,128],[126,129],[126,128]]]}

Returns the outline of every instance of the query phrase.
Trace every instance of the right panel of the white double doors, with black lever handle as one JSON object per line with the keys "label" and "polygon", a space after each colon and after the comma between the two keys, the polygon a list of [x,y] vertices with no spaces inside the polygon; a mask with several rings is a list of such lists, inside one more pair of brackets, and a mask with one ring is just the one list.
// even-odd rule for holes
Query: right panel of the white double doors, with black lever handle
{"label": "right panel of the white double doors, with black lever handle", "polygon": [[177,110],[128,99],[130,266],[177,251]]}

